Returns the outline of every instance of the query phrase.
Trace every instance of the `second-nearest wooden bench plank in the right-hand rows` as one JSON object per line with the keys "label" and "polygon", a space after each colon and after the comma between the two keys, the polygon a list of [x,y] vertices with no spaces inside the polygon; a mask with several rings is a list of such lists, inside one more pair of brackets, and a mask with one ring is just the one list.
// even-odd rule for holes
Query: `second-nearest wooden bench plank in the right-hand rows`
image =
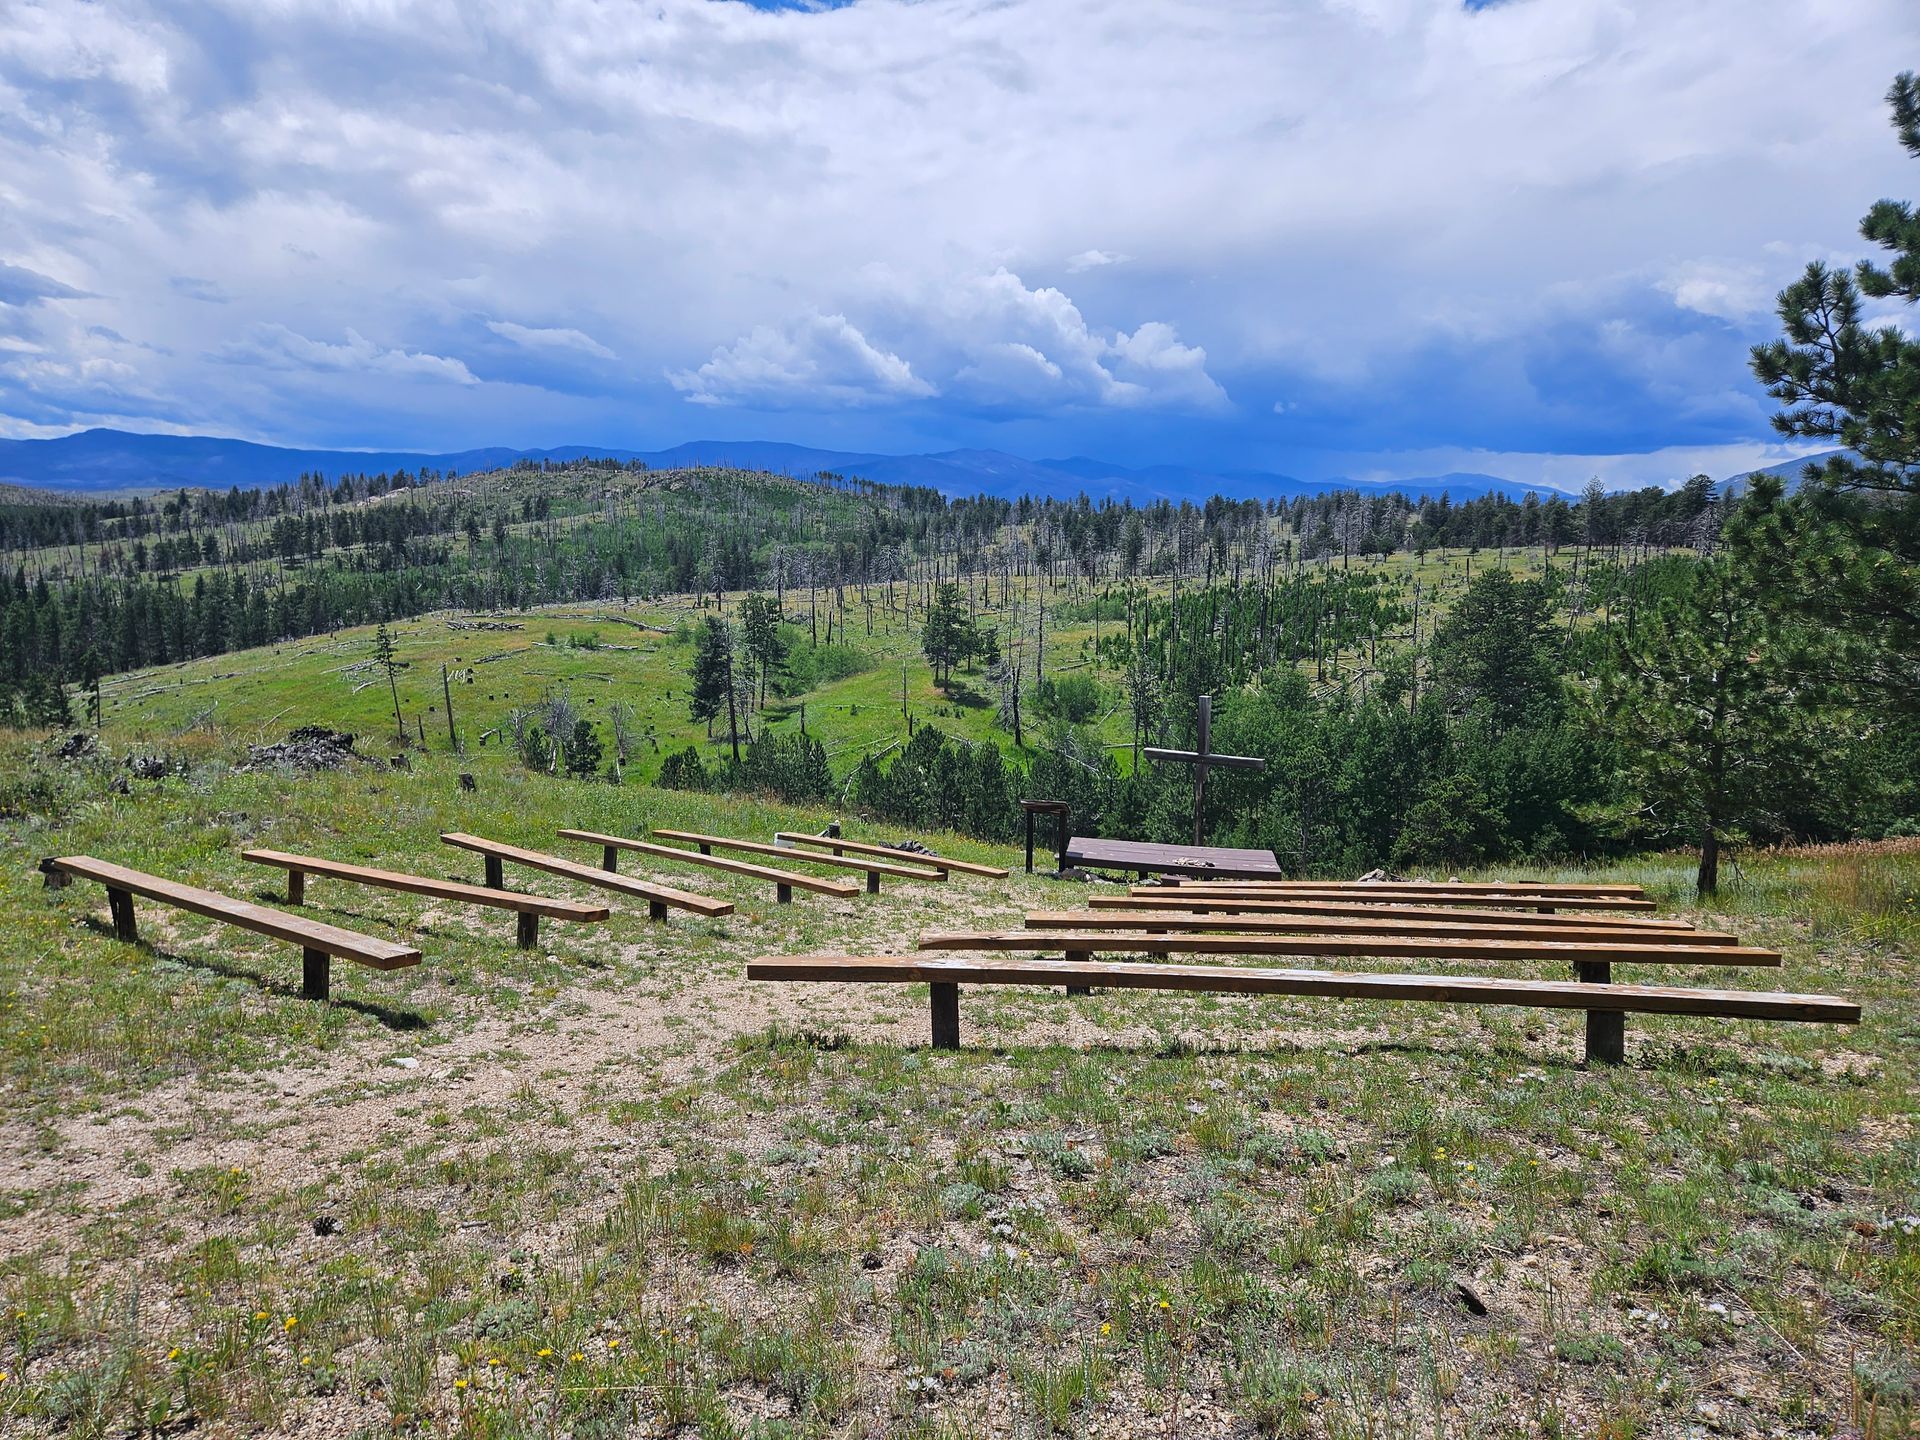
{"label": "second-nearest wooden bench plank in the right-hand rows", "polygon": [[1064,954],[1171,952],[1377,956],[1380,960],[1567,960],[1569,964],[1780,966],[1780,950],[1753,945],[1642,945],[1624,941],[1484,941],[1419,935],[1117,935],[1112,931],[958,931],[922,935],[922,950],[1060,950]]}

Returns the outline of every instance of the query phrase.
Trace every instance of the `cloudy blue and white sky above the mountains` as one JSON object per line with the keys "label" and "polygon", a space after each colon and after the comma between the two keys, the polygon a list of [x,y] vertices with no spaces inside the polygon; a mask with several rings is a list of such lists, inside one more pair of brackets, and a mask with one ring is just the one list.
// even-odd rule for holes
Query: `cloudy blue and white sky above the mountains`
{"label": "cloudy blue and white sky above the mountains", "polygon": [[1914,0],[0,0],[0,434],[1786,457]]}

